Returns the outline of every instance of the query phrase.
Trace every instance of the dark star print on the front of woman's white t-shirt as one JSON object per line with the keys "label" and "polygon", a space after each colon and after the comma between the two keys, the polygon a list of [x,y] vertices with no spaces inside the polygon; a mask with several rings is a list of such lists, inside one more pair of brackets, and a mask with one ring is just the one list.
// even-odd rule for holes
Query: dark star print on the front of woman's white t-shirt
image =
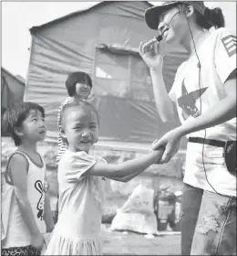
{"label": "dark star print on the front of woman's white t-shirt", "polygon": [[178,104],[182,109],[182,117],[184,120],[188,119],[190,116],[198,117],[201,115],[200,110],[196,107],[196,101],[201,97],[201,95],[208,89],[208,87],[202,88],[201,90],[188,92],[184,80],[182,81],[182,95],[178,99]]}

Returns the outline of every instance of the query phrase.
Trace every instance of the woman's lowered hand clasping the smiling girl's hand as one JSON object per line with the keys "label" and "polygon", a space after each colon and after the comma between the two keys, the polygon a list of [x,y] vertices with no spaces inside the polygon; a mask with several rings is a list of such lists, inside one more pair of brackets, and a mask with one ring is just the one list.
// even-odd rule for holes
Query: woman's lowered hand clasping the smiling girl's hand
{"label": "woman's lowered hand clasping the smiling girl's hand", "polygon": [[182,134],[179,128],[171,130],[170,132],[164,134],[160,140],[156,140],[151,145],[152,150],[159,149],[160,147],[165,147],[165,151],[160,160],[160,164],[168,163],[173,155],[175,155],[180,148],[180,140]]}

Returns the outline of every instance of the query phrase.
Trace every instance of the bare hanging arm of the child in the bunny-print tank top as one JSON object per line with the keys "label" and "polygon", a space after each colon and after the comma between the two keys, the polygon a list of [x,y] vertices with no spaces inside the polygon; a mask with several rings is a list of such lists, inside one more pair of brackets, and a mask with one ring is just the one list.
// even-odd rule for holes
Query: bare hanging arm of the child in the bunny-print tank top
{"label": "bare hanging arm of the child in the bunny-print tank top", "polygon": [[27,197],[26,159],[22,155],[15,154],[9,164],[11,180],[15,188],[15,197],[18,203],[22,219],[32,236],[41,236],[36,225],[36,220]]}

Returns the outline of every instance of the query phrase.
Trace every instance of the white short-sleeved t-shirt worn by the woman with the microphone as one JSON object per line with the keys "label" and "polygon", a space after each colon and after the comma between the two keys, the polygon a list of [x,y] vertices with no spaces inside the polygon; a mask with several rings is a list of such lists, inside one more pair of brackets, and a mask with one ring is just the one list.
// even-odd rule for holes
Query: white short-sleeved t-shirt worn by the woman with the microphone
{"label": "white short-sleeved t-shirt worn by the woman with the microphone", "polygon": [[[236,69],[236,37],[226,28],[208,31],[197,53],[201,61],[201,76],[198,58],[194,55],[180,65],[169,93],[171,100],[176,102],[181,123],[198,117],[226,97],[224,82]],[[201,130],[187,137],[204,136],[204,130]],[[205,138],[236,140],[236,118],[206,129]],[[236,197],[236,176],[227,171],[222,154],[222,147],[204,145],[206,175],[217,192]],[[185,169],[185,183],[213,191],[203,168],[202,144],[188,144]]]}

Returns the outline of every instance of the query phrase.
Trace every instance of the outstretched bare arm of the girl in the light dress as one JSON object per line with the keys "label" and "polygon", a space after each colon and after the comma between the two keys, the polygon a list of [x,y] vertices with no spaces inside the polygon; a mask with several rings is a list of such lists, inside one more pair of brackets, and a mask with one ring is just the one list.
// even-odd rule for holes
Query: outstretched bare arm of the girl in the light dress
{"label": "outstretched bare arm of the girl in the light dress", "polygon": [[150,152],[148,155],[126,161],[118,165],[107,165],[97,163],[93,165],[86,175],[105,176],[119,181],[129,181],[134,176],[138,176],[141,172],[149,167],[149,165],[159,163],[163,154],[163,150]]}

